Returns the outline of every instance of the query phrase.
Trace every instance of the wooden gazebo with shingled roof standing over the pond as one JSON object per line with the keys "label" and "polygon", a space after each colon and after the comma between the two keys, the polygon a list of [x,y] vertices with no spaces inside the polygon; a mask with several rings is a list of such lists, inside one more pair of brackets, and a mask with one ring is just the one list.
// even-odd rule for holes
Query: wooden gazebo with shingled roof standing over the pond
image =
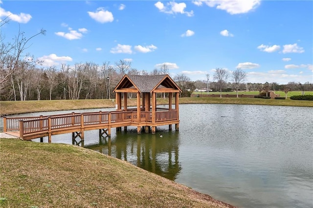
{"label": "wooden gazebo with shingled roof standing over the pond", "polygon": [[[145,132],[148,133],[151,126],[152,134],[156,133],[156,126],[160,125],[169,125],[169,129],[172,129],[172,125],[175,124],[175,129],[179,129],[179,92],[181,89],[169,75],[124,75],[113,92],[116,98],[115,108],[121,111],[123,117],[116,119],[131,120],[131,123],[125,123],[125,128],[127,125],[137,126],[138,134],[141,133],[141,127],[145,127]],[[136,94],[136,108],[127,107],[128,93]],[[168,108],[156,106],[156,93],[168,93]],[[173,97],[175,98],[174,108],[172,107]],[[117,127],[117,130],[120,128]]]}

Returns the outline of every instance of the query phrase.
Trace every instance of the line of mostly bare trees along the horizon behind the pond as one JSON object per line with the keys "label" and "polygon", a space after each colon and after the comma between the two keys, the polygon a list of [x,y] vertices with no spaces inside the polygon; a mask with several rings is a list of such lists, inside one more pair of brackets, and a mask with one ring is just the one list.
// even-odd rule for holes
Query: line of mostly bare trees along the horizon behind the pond
{"label": "line of mostly bare trees along the horizon behind the pond", "polygon": [[[0,27],[8,23],[7,18],[0,21]],[[148,72],[137,70],[131,62],[119,60],[102,64],[94,62],[61,64],[43,67],[43,62],[35,60],[25,50],[29,42],[38,35],[45,35],[42,29],[39,33],[26,38],[24,32],[19,32],[11,42],[5,42],[5,36],[0,35],[0,101],[26,100],[78,100],[78,99],[111,99],[114,98],[113,88],[125,75],[161,75],[168,74],[166,64]],[[229,78],[231,78],[229,80]],[[212,91],[239,90],[283,90],[283,91],[313,91],[312,83],[245,83],[246,72],[237,68],[231,74],[223,68],[216,68],[213,82],[207,80],[191,81],[184,74],[178,74],[173,80],[181,88],[181,97],[190,97],[196,88],[205,88],[210,84]],[[133,94],[129,93],[132,98]],[[166,93],[159,94],[166,96]]]}

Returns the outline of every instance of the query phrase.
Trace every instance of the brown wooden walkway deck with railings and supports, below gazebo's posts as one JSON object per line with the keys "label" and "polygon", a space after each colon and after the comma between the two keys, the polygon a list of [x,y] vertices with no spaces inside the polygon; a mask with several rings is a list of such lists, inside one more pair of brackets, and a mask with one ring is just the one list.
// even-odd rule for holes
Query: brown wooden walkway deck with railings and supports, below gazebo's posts
{"label": "brown wooden walkway deck with railings and supports, below gazebo's posts", "polygon": [[[72,133],[72,138],[80,137],[83,140],[84,131],[99,129],[99,135],[105,133],[110,136],[111,128],[122,126],[137,126],[137,129],[145,126],[147,131],[149,126],[175,124],[178,130],[178,110],[158,108],[155,115],[152,115],[151,111],[140,111],[140,114],[137,114],[136,109],[39,117],[3,117],[3,131],[22,140],[47,136],[50,143],[51,135]],[[140,115],[139,119],[138,115]]]}

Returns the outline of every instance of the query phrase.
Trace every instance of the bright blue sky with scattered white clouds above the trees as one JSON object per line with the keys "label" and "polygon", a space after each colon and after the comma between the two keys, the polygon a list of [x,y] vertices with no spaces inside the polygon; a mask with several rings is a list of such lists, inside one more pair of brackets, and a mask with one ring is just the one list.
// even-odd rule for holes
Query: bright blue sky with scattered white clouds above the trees
{"label": "bright blue sky with scattered white clouds above the trees", "polygon": [[246,82],[313,83],[313,1],[0,1],[3,42],[19,29],[45,36],[27,52],[44,66],[132,62],[170,76],[210,80],[217,67],[241,67]]}

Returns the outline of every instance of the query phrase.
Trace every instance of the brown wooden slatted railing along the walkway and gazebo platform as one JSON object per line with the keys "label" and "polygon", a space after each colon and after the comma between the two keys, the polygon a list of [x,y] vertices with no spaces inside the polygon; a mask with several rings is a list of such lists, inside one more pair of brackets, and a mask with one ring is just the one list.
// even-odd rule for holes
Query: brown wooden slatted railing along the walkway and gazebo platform
{"label": "brown wooden slatted railing along the walkway and gazebo platform", "polygon": [[[156,123],[178,120],[177,110],[157,111]],[[135,123],[135,124],[134,124]],[[20,137],[34,134],[55,134],[68,132],[68,129],[99,129],[103,126],[140,125],[153,123],[151,111],[141,111],[140,121],[136,111],[112,111],[91,113],[70,113],[39,117],[3,117],[3,131],[20,131]]]}

